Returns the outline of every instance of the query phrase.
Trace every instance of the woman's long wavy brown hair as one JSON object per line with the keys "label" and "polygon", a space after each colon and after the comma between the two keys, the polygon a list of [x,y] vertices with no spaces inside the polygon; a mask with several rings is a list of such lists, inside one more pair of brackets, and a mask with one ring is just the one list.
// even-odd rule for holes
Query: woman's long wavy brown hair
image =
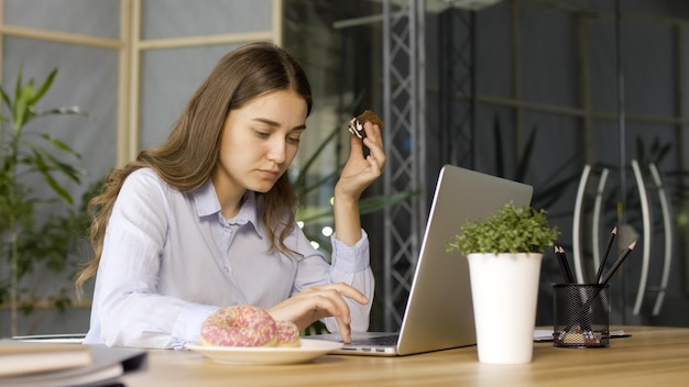
{"label": "woman's long wavy brown hair", "polygon": [[[182,192],[193,192],[210,178],[218,163],[225,121],[234,109],[271,91],[294,90],[304,98],[307,115],[313,97],[306,74],[283,48],[272,43],[252,43],[222,57],[192,96],[167,140],[158,147],[142,151],[135,161],[113,169],[101,191],[88,203],[91,213],[90,241],[94,257],[78,273],[77,290],[96,275],[103,248],[106,228],[124,179],[134,170],[150,167]],[[284,174],[263,197],[263,222],[271,247],[291,252],[284,240],[294,224],[296,195]]]}

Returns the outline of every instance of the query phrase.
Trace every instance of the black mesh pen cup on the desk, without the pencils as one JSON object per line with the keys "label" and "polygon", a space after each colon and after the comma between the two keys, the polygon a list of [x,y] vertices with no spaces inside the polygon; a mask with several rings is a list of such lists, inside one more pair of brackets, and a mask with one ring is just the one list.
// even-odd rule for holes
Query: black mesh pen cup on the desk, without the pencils
{"label": "black mesh pen cup on the desk, without the pencils", "polygon": [[554,284],[553,343],[560,347],[610,345],[608,285]]}

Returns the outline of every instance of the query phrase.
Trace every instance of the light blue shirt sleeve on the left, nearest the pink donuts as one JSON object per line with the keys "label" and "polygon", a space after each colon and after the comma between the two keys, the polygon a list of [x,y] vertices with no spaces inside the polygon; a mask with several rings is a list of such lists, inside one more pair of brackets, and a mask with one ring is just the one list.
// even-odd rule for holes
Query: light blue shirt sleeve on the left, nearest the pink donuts
{"label": "light blue shirt sleeve on the left, nearest the pink donuts", "polygon": [[218,310],[157,291],[167,230],[164,190],[149,175],[125,180],[106,232],[87,342],[178,347],[198,341],[200,324]]}

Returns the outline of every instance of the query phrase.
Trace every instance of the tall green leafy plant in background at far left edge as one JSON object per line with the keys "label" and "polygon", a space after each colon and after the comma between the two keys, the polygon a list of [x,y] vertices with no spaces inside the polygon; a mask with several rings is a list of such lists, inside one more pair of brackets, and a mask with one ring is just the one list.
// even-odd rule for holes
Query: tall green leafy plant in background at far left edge
{"label": "tall green leafy plant in background at far left edge", "polygon": [[[56,154],[79,161],[80,155],[61,140],[48,133],[26,129],[26,124],[40,117],[79,114],[77,107],[37,110],[39,101],[51,88],[57,69],[50,73],[40,85],[34,79],[22,79],[20,68],[13,95],[0,87],[3,107],[8,117],[2,122],[0,148],[0,236],[2,257],[0,261],[0,303],[9,302],[11,309],[12,335],[18,333],[19,310],[29,313],[33,310],[31,300],[21,300],[21,284],[42,263],[53,272],[63,272],[67,266],[68,248],[74,242],[69,233],[74,222],[81,224],[78,212],[67,217],[51,214],[41,222],[41,206],[63,201],[73,204],[74,199],[59,183],[61,177],[79,183],[81,170],[75,165],[56,157]],[[39,198],[34,195],[26,178],[37,174],[51,188],[52,196]],[[43,217],[45,218],[45,217]],[[9,264],[6,269],[4,263]],[[7,276],[7,278],[4,277]],[[30,292],[24,289],[24,292]],[[68,303],[65,291],[58,290],[52,302],[58,308]]]}

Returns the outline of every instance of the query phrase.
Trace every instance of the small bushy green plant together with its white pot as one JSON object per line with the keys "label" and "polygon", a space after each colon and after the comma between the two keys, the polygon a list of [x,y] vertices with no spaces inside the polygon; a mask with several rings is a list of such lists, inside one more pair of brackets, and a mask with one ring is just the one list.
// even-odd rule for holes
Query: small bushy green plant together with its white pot
{"label": "small bushy green plant together with its white pot", "polygon": [[540,263],[558,235],[545,210],[508,202],[484,220],[468,220],[447,242],[448,252],[469,262],[481,363],[532,361]]}

